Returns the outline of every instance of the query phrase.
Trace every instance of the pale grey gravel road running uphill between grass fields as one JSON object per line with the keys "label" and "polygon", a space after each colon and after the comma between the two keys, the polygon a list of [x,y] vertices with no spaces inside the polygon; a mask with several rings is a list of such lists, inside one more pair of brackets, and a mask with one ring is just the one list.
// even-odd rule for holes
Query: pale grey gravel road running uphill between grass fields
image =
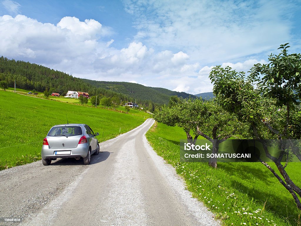
{"label": "pale grey gravel road running uphill between grass fields", "polygon": [[144,124],[100,144],[90,165],[59,159],[0,171],[0,225],[220,225],[149,146]]}

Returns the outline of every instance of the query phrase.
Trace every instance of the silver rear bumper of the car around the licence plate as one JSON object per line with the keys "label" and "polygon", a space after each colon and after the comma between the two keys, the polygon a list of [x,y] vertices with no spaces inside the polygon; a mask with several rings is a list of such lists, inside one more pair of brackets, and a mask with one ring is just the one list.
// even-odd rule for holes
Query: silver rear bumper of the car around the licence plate
{"label": "silver rear bumper of the car around the licence plate", "polygon": [[[75,158],[75,157],[82,157],[85,158],[88,155],[89,145],[88,143],[79,144],[76,148],[52,148],[49,149],[48,145],[42,146],[42,159],[55,159],[55,158]],[[70,151],[70,154],[61,154],[63,152]]]}

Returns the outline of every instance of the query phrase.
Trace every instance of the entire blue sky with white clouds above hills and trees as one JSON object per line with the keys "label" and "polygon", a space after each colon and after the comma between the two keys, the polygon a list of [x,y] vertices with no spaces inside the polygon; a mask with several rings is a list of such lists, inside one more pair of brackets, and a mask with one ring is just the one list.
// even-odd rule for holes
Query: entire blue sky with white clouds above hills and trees
{"label": "entire blue sky with white clouds above hills and trees", "polygon": [[210,92],[215,65],[248,71],[290,42],[301,0],[0,0],[0,55],[75,77]]}

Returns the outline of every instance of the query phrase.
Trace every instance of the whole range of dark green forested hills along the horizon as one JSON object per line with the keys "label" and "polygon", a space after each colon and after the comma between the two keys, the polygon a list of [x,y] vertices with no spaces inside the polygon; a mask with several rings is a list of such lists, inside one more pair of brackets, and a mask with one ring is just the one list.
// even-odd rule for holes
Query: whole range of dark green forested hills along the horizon
{"label": "whole range of dark green forested hills along the horizon", "polygon": [[[10,60],[0,57],[0,81],[8,82],[9,87],[43,92],[48,89],[51,93],[65,95],[68,90],[88,92],[90,96],[100,95],[117,97],[122,101],[135,101],[148,106],[150,102],[155,105],[168,104],[169,97],[173,95],[186,98],[187,93],[178,93],[163,88],[146,87],[128,82],[100,82],[73,77],[61,71],[53,70],[38,64],[24,61]],[[193,95],[191,95],[193,96]]]}

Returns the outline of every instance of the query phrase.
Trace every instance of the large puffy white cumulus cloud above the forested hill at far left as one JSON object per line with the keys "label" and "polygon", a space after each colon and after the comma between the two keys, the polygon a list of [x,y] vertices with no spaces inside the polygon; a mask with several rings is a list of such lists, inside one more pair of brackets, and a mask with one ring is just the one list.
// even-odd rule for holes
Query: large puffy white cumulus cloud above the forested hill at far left
{"label": "large puffy white cumulus cloud above the forested hill at far left", "polygon": [[95,20],[81,22],[64,17],[54,25],[24,15],[4,15],[0,17],[0,29],[0,54],[68,72],[76,65],[91,64],[95,55],[107,48],[107,42],[101,39],[102,25]]}

